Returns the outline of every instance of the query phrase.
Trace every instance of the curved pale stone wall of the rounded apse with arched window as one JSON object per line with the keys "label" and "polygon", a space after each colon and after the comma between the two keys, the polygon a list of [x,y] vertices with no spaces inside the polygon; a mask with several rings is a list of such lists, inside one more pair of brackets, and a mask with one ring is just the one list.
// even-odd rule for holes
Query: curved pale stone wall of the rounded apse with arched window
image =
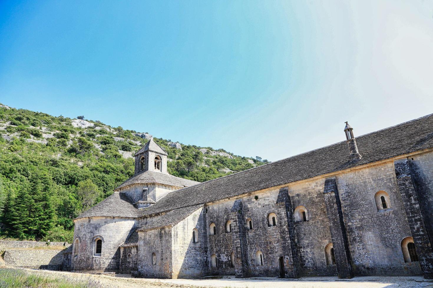
{"label": "curved pale stone wall of the rounded apse with arched window", "polygon": [[[72,271],[119,271],[119,246],[125,242],[135,225],[136,220],[132,218],[95,217],[75,220],[74,241],[79,240],[79,251],[72,258]],[[100,256],[94,256],[96,238],[102,240]]]}

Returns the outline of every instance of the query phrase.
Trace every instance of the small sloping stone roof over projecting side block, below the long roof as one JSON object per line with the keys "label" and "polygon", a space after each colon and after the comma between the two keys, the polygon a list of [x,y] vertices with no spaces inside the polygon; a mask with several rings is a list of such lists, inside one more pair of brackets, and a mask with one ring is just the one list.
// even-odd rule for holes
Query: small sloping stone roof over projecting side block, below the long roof
{"label": "small sloping stone roof over projecting side block, below the long roof", "polygon": [[146,220],[144,225],[138,228],[137,231],[146,231],[155,228],[176,225],[200,207],[203,207],[203,205],[187,206],[171,210],[156,219]]}

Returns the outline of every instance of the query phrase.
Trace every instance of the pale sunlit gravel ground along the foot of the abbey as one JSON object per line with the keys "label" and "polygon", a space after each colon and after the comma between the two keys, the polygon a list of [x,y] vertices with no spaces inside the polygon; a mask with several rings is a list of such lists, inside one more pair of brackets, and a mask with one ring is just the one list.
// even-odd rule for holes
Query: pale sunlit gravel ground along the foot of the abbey
{"label": "pale sunlit gravel ground along the foot of the abbey", "polygon": [[108,287],[128,287],[128,288],[156,288],[156,287],[243,287],[243,288],[355,288],[355,287],[389,287],[389,288],[415,288],[431,287],[433,280],[424,279],[421,276],[367,276],[355,277],[353,279],[337,279],[336,277],[306,277],[301,279],[277,279],[277,278],[246,278],[238,279],[233,276],[225,276],[219,279],[144,279],[131,278],[130,275],[95,275],[84,273],[58,272],[48,270],[26,269],[30,273],[67,275],[67,277],[84,279],[91,277]]}

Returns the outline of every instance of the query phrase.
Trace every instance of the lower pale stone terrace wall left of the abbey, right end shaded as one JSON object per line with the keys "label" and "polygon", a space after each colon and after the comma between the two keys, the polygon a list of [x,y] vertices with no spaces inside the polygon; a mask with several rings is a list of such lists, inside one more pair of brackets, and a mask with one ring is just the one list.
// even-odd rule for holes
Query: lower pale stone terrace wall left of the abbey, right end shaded
{"label": "lower pale stone terrace wall left of the abbey, right end shaded", "polygon": [[6,266],[52,269],[61,268],[62,250],[23,250],[8,249],[3,255]]}

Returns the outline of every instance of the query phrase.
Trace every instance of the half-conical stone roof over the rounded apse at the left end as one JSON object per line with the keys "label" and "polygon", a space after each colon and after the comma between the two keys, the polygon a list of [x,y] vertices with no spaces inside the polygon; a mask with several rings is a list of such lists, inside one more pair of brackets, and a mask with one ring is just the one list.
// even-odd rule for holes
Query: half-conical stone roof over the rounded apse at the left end
{"label": "half-conical stone roof over the rounded apse at the left end", "polygon": [[84,211],[75,219],[87,217],[138,218],[140,214],[139,209],[136,209],[132,205],[125,193],[114,192],[111,196]]}

